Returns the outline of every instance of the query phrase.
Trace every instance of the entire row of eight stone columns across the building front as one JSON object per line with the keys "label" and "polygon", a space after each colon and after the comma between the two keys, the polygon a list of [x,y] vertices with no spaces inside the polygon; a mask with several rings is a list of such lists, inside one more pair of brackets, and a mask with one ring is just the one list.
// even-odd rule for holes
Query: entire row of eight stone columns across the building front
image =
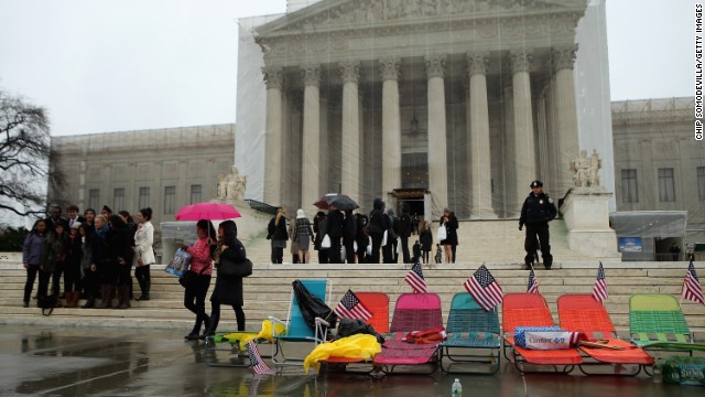
{"label": "entire row of eight stone columns across the building front", "polygon": [[[573,61],[576,47],[553,51],[555,93],[553,104],[553,135],[556,139],[557,164],[567,164],[577,152],[577,118],[575,109],[575,88],[573,82]],[[529,182],[540,178],[535,167],[534,122],[531,103],[531,81],[529,67],[532,62],[530,51],[510,52],[512,72],[511,120],[513,120],[508,153],[512,161],[514,178],[509,178],[509,208],[519,208]],[[382,77],[382,192],[391,192],[401,186],[401,116],[399,101],[400,58],[379,61]],[[496,218],[492,208],[492,185],[490,173],[489,110],[487,98],[487,69],[489,53],[468,53],[467,71],[469,77],[467,114],[469,149],[468,176],[471,183],[468,201],[473,218]],[[445,55],[425,57],[429,100],[429,190],[431,191],[432,212],[435,217],[448,204],[447,155],[446,155],[446,104],[445,104]],[[338,64],[343,77],[343,140],[341,192],[356,201],[360,198],[361,187],[361,131],[359,107],[359,61]],[[267,83],[267,153],[264,200],[280,205],[282,180],[282,86],[283,69],[264,67]],[[302,163],[302,203],[314,203],[323,193],[321,170],[321,125],[319,125],[319,65],[305,65],[302,68],[304,86],[303,120],[303,163]],[[563,170],[565,169],[565,170]],[[560,167],[558,179],[570,184],[567,165]],[[557,186],[556,186],[557,187]]]}

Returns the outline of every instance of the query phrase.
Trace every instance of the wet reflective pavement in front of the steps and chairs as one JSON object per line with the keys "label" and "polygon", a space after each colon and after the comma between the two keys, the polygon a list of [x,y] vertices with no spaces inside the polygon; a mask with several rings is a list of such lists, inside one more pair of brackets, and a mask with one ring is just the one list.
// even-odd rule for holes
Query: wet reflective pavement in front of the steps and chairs
{"label": "wet reflective pavement in front of the steps and chairs", "polygon": [[184,342],[187,330],[0,325],[0,331],[2,396],[448,396],[455,378],[466,397],[705,395],[704,387],[654,384],[643,373],[521,375],[506,361],[494,376],[436,372],[373,378],[306,375],[292,367],[258,379],[250,368],[207,366],[203,342]]}

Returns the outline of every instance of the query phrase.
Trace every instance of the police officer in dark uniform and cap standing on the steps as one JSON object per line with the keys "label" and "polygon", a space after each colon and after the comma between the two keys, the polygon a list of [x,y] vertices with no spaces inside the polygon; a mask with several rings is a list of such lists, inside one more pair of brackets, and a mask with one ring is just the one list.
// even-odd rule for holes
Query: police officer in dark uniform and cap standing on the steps
{"label": "police officer in dark uniform and cap standing on the steps", "polygon": [[533,181],[530,184],[531,193],[521,207],[521,217],[519,218],[519,229],[527,225],[527,238],[524,240],[524,249],[527,256],[524,262],[527,270],[531,269],[536,253],[536,237],[541,247],[541,256],[543,257],[543,266],[546,270],[551,270],[553,265],[553,256],[551,255],[551,244],[549,243],[549,222],[555,218],[557,210],[553,203],[553,198],[543,192],[543,183]]}

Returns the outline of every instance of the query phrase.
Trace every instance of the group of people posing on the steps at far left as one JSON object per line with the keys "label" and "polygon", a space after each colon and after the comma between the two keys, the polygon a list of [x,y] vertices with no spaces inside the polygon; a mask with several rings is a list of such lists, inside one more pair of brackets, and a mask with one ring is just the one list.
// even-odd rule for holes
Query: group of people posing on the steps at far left
{"label": "group of people posing on the steps at far left", "polygon": [[84,309],[128,309],[132,268],[141,290],[137,300],[150,299],[150,265],[154,264],[151,208],[140,210],[137,223],[127,211],[113,214],[107,205],[99,215],[94,208],[79,215],[76,205],[68,206],[66,218],[58,206],[52,206],[50,213],[34,223],[22,247],[25,308],[39,276],[37,305],[51,294],[58,307],[76,308],[85,298]]}

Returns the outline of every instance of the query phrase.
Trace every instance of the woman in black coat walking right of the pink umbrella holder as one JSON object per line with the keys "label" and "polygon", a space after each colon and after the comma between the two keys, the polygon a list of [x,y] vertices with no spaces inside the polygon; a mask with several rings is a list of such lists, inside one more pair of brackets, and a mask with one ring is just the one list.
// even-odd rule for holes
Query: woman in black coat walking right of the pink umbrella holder
{"label": "woman in black coat walking right of the pink umbrella holder", "polygon": [[[232,221],[221,222],[218,226],[218,248],[216,249],[216,269],[225,261],[240,264],[247,259],[245,246],[238,239],[238,227]],[[218,271],[216,287],[210,296],[210,322],[204,337],[216,334],[220,321],[220,304],[230,304],[238,322],[238,331],[245,331],[245,311],[242,310],[242,278],[226,276]]]}

